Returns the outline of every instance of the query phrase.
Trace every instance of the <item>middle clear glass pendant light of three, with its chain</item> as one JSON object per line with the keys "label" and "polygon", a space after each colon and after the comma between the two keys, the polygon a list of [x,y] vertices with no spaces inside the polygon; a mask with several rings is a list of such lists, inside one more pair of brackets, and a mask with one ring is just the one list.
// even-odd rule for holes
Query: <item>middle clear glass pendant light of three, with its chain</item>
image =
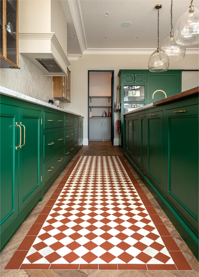
{"label": "middle clear glass pendant light of three, with its chain", "polygon": [[160,48],[160,59],[162,61],[167,61],[168,56],[169,62],[182,60],[185,57],[186,52],[185,46],[178,45],[174,39],[172,24],[172,8],[173,0],[171,0],[171,33],[163,40],[163,43]]}

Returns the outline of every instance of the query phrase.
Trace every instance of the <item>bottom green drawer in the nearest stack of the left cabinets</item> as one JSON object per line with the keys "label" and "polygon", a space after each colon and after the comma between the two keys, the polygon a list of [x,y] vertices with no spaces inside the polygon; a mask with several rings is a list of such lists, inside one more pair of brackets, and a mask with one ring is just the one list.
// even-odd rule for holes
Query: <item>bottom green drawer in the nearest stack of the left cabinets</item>
{"label": "bottom green drawer in the nearest stack of the left cabinets", "polygon": [[44,185],[56,173],[56,171],[64,164],[64,149],[57,155],[44,163],[43,183]]}

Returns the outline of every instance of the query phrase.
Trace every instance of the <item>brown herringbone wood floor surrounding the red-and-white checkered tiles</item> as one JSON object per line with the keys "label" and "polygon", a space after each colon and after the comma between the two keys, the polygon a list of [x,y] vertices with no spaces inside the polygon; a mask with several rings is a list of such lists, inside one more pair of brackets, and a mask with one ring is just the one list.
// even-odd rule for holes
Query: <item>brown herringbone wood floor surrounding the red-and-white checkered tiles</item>
{"label": "brown herringbone wood floor surrounding the red-and-white checkered tiles", "polygon": [[92,141],[89,146],[82,146],[80,151],[75,155],[74,159],[65,167],[64,172],[57,177],[48,191],[45,193],[43,201],[38,202],[36,207],[32,210],[27,219],[20,226],[18,231],[11,238],[9,243],[0,253],[0,277],[199,277],[199,262],[196,260],[188,246],[185,244],[179,233],[176,231],[175,227],[165,215],[157,201],[154,199],[152,194],[148,191],[145,185],[142,183],[138,175],[134,172],[132,167],[126,161],[128,167],[138,180],[139,184],[142,186],[142,189],[147,194],[152,205],[156,209],[157,213],[165,223],[167,229],[175,239],[179,248],[185,255],[189,264],[192,266],[194,271],[159,271],[159,270],[150,270],[150,271],[140,271],[140,270],[3,270],[6,264],[9,262],[14,252],[18,248],[19,244],[23,240],[24,236],[42,211],[43,207],[51,197],[52,193],[56,189],[57,185],[63,178],[63,175],[66,174],[69,167],[72,165],[73,161],[78,155],[87,156],[118,156],[123,155],[123,150],[118,146],[112,146],[110,142],[102,141]]}

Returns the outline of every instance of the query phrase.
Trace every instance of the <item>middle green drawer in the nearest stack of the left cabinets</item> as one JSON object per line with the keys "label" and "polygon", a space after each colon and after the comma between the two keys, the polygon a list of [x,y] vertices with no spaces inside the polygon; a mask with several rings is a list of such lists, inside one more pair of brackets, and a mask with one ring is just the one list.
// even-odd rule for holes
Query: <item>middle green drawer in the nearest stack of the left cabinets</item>
{"label": "middle green drawer in the nearest stack of the left cabinets", "polygon": [[43,157],[64,145],[64,131],[44,135]]}

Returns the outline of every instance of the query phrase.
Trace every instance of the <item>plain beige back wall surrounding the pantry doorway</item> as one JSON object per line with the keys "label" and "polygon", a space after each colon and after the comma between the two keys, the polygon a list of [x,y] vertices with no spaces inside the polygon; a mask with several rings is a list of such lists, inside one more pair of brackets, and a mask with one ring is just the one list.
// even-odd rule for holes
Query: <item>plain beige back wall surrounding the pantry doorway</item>
{"label": "plain beige back wall surrounding the pantry doorway", "polygon": [[[116,101],[119,69],[148,69],[149,57],[150,55],[83,55],[78,61],[71,61],[71,103],[65,103],[65,108],[84,116],[84,145],[88,139],[88,70],[115,70]],[[199,69],[199,55],[186,55],[183,60],[171,63],[169,69]],[[117,119],[118,112],[115,113],[114,126]],[[116,128],[114,137],[114,143],[117,144]]]}

